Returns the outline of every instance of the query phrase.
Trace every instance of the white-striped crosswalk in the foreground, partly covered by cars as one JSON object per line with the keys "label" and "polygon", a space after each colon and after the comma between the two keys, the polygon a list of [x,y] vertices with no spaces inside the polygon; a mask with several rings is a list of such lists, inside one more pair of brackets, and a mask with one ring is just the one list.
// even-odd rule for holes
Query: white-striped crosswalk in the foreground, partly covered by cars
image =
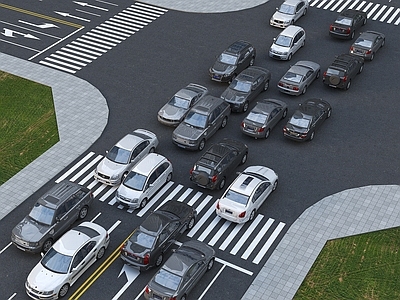
{"label": "white-striped crosswalk in the foreground, partly covered by cars", "polygon": [[172,181],[165,184],[143,209],[127,209],[115,200],[114,195],[118,187],[107,186],[93,177],[94,169],[102,158],[102,155],[96,155],[94,152],[88,153],[57,178],[56,182],[67,179],[84,185],[92,190],[97,201],[115,206],[137,217],[143,217],[147,212],[156,210],[169,200],[185,202],[195,207],[198,214],[195,226],[187,233],[188,237],[206,242],[212,247],[240,256],[243,260],[254,264],[260,263],[286,225],[263,214],[258,214],[252,222],[245,224],[226,221],[215,214],[217,200],[213,196]]}

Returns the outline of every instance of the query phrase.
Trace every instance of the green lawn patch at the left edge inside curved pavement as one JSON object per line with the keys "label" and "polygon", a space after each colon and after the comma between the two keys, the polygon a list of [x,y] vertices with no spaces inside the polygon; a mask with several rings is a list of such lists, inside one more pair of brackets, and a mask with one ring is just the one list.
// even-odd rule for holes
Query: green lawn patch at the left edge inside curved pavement
{"label": "green lawn patch at the left edge inside curved pavement", "polygon": [[51,88],[0,71],[0,185],[58,141]]}

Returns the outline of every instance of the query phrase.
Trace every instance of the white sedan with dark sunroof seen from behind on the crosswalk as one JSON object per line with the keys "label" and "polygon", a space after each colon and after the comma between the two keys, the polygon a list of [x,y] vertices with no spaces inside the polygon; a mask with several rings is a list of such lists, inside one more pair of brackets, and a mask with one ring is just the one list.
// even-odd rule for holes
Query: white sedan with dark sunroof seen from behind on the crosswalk
{"label": "white sedan with dark sunroof seen from behind on the crosswalk", "polygon": [[247,167],[217,201],[215,212],[235,223],[252,221],[278,186],[278,175],[264,166]]}

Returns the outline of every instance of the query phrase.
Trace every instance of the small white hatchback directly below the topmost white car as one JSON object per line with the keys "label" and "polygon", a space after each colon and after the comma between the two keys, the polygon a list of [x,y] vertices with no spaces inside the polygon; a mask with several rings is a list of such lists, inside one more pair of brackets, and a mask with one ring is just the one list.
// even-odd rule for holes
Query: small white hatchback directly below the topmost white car
{"label": "small white hatchback directly below the topmost white car", "polygon": [[296,25],[289,25],[276,38],[269,48],[269,57],[280,60],[291,60],[301,47],[305,45],[306,32]]}

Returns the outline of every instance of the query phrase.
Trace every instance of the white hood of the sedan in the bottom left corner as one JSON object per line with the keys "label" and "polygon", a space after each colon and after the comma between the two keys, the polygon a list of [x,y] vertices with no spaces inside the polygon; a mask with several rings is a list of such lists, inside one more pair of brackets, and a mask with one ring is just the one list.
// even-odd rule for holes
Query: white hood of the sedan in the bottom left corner
{"label": "white hood of the sedan in the bottom left corner", "polygon": [[67,280],[67,274],[59,274],[44,268],[39,262],[29,273],[29,285],[38,291],[56,290]]}

